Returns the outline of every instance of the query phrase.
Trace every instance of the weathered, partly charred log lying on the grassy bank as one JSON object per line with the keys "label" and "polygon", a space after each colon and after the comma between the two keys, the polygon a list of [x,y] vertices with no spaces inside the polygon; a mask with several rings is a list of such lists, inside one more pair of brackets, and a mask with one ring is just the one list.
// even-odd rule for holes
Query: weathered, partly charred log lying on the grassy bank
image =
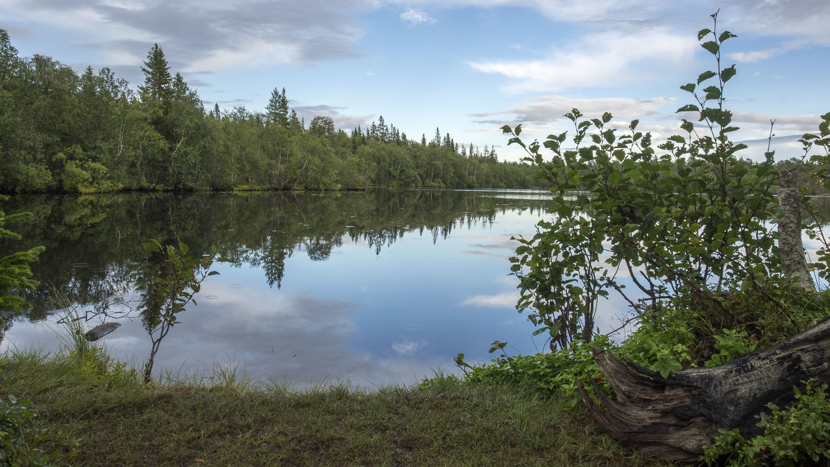
{"label": "weathered, partly charred log lying on the grassy bank", "polygon": [[719,428],[757,435],[759,415],[770,402],[786,406],[793,386],[813,379],[830,384],[830,318],[787,341],[720,366],[670,373],[594,349],[599,370],[617,401],[599,391],[595,403],[578,381],[593,418],[623,445],[670,460],[693,461]]}

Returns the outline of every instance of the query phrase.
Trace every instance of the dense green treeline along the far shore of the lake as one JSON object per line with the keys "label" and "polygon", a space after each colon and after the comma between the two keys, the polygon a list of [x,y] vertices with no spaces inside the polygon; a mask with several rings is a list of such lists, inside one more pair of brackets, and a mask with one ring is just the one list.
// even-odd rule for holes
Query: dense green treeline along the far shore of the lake
{"label": "dense green treeline along the far shore of the lake", "polygon": [[265,112],[205,111],[155,45],[134,90],[109,68],[79,76],[51,57],[18,57],[0,30],[0,191],[532,187],[530,165],[458,145],[436,130],[409,140],[380,117],[365,130],[305,121],[274,90]]}

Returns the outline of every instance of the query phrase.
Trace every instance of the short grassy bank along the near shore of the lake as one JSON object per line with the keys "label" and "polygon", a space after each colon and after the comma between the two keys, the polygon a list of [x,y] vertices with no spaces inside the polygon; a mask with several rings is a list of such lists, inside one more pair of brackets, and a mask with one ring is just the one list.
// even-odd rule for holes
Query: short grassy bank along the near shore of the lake
{"label": "short grassy bank along the near shore of the lake", "polygon": [[70,465],[660,465],[623,449],[582,408],[454,377],[377,391],[304,392],[232,381],[143,385],[95,349],[0,360],[2,396],[31,401],[46,452]]}

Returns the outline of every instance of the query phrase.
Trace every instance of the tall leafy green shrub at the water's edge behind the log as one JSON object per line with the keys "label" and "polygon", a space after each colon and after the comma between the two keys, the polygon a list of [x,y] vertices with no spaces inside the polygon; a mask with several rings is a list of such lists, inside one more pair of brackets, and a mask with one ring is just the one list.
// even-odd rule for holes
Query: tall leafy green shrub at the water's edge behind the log
{"label": "tall leafy green shrub at the water's edge behind the log", "polygon": [[[717,67],[681,86],[696,104],[678,109],[700,124],[683,119],[686,134],[669,137],[659,146],[661,155],[651,135],[637,131],[637,120],[618,134],[608,112],[591,119],[577,109],[566,114],[574,124],[570,143],[562,133],[528,145],[520,125],[503,127],[510,144],[525,148],[525,160],[554,184],[549,212],[556,219],[541,221],[533,238],[519,238],[511,259],[520,279],[518,308],[529,312],[537,332],[549,334],[551,347],[566,347],[575,337],[591,340],[598,301],[609,292],[641,317],[659,312],[671,297],[722,311],[720,294],[730,290],[751,290],[774,302],[769,288],[782,272],[777,232],[766,223],[779,215],[778,171],[771,154],[761,164],[740,160],[745,145],[728,138],[736,128],[723,90],[735,68],[720,66],[720,46],[735,36],[718,34],[716,21],[700,36],[711,38],[701,47]],[[544,159],[543,146],[551,159]],[[621,275],[645,299],[624,290]]]}

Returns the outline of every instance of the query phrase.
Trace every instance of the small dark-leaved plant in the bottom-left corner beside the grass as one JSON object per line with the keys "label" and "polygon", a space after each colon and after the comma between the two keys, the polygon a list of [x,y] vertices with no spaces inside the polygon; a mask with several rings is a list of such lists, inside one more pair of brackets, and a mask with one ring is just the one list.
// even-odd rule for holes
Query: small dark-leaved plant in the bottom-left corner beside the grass
{"label": "small dark-leaved plant in the bottom-left corner beside the grass", "polygon": [[8,396],[8,402],[0,399],[0,465],[58,465],[64,459],[59,450],[46,453],[38,445],[57,441],[66,443],[66,457],[74,457],[78,440],[61,440],[46,428],[32,422],[36,416],[29,410],[31,402],[17,401]]}

